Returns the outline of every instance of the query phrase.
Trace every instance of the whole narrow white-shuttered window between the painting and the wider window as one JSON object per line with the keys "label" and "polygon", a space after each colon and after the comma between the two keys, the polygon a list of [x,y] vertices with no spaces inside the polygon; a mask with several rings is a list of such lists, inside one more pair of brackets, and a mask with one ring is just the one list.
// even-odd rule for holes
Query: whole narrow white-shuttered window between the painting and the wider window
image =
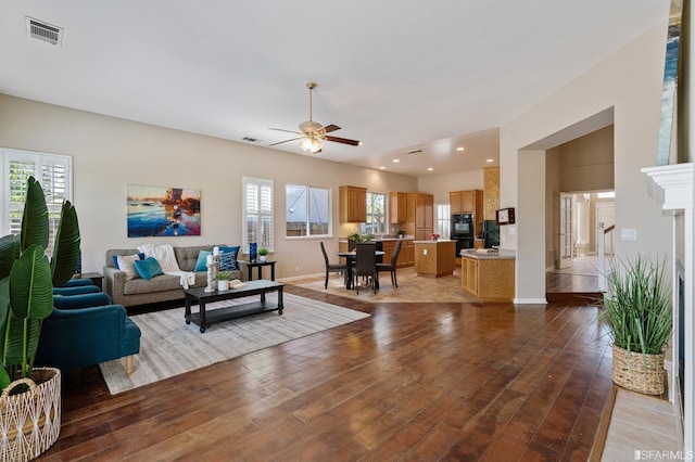
{"label": "whole narrow white-shuttered window between the painting and the wider window", "polygon": [[243,248],[249,253],[249,243],[258,248],[274,251],[273,239],[273,180],[243,177]]}

